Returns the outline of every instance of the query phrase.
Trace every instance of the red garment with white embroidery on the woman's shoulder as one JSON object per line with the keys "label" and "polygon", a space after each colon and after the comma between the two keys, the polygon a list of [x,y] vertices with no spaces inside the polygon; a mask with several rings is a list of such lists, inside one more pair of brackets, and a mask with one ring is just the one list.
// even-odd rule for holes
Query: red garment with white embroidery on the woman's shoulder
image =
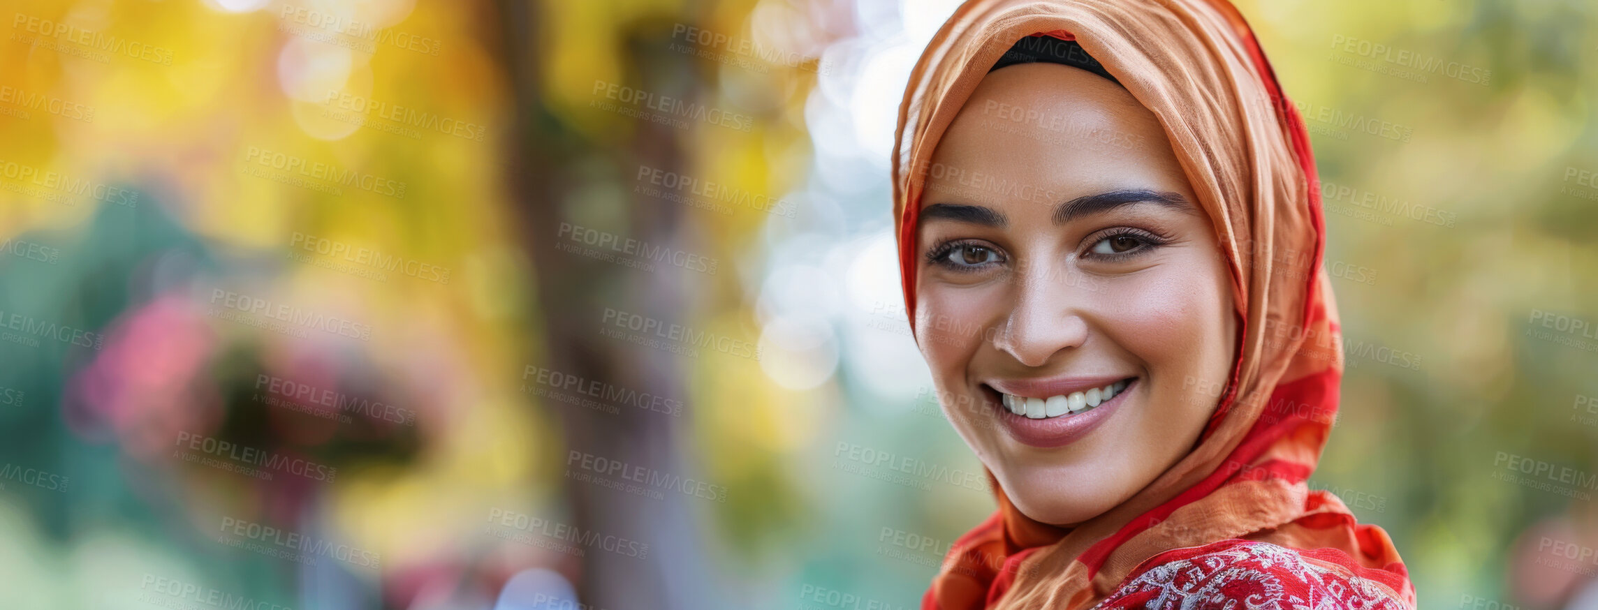
{"label": "red garment with white embroidery on the woman's shoulder", "polygon": [[1205,608],[1227,600],[1246,600],[1250,608],[1413,608],[1339,549],[1240,538],[1154,556],[1096,608]]}

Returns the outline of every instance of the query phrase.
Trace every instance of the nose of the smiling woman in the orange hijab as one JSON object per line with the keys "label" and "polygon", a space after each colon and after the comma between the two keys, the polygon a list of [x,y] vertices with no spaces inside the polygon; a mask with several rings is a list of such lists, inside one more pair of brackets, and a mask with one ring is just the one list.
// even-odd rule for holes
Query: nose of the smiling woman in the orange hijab
{"label": "nose of the smiling woman in the orange hijab", "polygon": [[1013,276],[1015,302],[994,334],[994,347],[1024,366],[1040,367],[1087,340],[1082,308],[1088,284],[1071,281],[1069,271],[1058,267],[1028,271]]}

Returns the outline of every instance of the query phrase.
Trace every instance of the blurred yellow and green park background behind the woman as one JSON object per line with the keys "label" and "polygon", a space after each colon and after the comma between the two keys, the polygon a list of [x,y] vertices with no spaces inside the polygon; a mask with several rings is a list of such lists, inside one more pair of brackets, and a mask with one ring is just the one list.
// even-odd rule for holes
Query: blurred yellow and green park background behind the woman
{"label": "blurred yellow and green park background behind the woman", "polygon": [[[0,605],[912,608],[992,509],[888,152],[954,2],[6,0]],[[1243,2],[1421,607],[1598,607],[1598,6]]]}

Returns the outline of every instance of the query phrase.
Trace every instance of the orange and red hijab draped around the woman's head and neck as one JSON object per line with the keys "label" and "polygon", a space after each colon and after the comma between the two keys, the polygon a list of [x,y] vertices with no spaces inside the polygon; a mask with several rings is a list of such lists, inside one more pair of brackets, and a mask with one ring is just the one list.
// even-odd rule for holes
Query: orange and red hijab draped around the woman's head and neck
{"label": "orange and red hijab draped around the woman's head and neck", "polygon": [[949,18],[911,72],[893,150],[911,324],[932,153],[978,81],[1029,35],[1075,40],[1159,117],[1229,260],[1237,362],[1198,444],[1111,511],[1059,529],[1000,490],[999,511],[956,541],[924,607],[1087,608],[1160,553],[1229,538],[1341,551],[1347,568],[1414,607],[1387,533],[1306,484],[1342,378],[1320,190],[1304,121],[1226,0],[972,0]]}

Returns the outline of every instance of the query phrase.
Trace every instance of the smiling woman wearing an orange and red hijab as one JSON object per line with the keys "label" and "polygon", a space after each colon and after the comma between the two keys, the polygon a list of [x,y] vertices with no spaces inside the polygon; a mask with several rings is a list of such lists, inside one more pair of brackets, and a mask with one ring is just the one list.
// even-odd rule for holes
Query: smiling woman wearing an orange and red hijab
{"label": "smiling woman wearing an orange and red hijab", "polygon": [[925,608],[1413,608],[1306,481],[1342,353],[1302,120],[1224,0],[973,0],[911,73],[904,299],[999,511]]}

